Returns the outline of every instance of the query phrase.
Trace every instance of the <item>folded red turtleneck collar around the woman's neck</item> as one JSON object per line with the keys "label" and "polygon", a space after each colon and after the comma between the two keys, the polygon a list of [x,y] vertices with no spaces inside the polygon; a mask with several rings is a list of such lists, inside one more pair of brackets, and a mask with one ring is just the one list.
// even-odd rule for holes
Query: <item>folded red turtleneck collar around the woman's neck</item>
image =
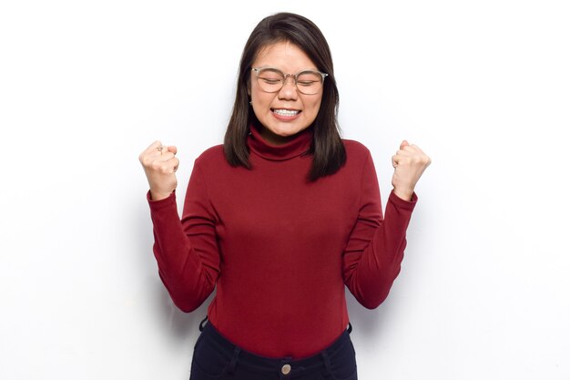
{"label": "folded red turtleneck collar around the woman's neck", "polygon": [[285,160],[300,156],[310,149],[312,127],[301,130],[293,139],[282,145],[273,145],[261,137],[260,130],[249,126],[249,149],[264,159]]}

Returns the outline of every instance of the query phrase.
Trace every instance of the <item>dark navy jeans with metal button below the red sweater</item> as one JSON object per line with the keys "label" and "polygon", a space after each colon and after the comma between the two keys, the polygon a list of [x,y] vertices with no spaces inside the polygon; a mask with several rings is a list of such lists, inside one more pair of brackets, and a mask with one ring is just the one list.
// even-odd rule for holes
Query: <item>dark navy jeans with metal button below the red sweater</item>
{"label": "dark navy jeans with metal button below the red sweater", "polygon": [[200,324],[200,330],[190,380],[357,380],[351,327],[321,353],[300,360],[251,354],[229,342],[211,324]]}

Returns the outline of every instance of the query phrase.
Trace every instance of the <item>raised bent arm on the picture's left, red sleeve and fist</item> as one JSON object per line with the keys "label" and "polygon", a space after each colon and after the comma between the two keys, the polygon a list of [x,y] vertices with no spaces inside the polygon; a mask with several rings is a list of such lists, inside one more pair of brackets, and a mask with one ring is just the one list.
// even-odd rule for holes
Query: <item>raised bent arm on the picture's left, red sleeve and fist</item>
{"label": "raised bent arm on the picture's left, red sleeve and fist", "polygon": [[[153,145],[157,145],[156,152]],[[180,221],[174,192],[177,183],[174,173],[178,169],[178,159],[174,159],[176,148],[168,147],[164,152],[158,150],[162,147],[159,142],[153,145],[140,157],[150,186],[153,251],[158,273],[170,297],[180,310],[188,313],[208,298],[218,279],[215,220],[205,183],[195,165],[188,182],[184,222]]]}

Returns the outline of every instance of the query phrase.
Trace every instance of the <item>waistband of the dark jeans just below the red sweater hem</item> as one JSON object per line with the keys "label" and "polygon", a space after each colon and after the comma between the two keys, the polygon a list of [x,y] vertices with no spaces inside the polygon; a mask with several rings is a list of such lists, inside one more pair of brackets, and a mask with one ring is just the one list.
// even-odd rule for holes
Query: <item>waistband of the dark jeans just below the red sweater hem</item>
{"label": "waistband of the dark jeans just below the red sweater hem", "polygon": [[204,335],[203,338],[210,339],[223,352],[230,354],[232,359],[229,364],[229,372],[233,372],[236,366],[248,368],[250,371],[258,374],[276,374],[280,378],[295,378],[300,375],[308,375],[322,371],[323,368],[330,369],[330,357],[337,350],[341,349],[344,344],[351,344],[352,326],[349,324],[341,336],[339,336],[332,344],[326,347],[318,354],[314,354],[307,358],[295,359],[291,357],[270,358],[252,354],[236,344],[232,344],[210,323],[204,324],[206,319],[200,323],[200,331]]}

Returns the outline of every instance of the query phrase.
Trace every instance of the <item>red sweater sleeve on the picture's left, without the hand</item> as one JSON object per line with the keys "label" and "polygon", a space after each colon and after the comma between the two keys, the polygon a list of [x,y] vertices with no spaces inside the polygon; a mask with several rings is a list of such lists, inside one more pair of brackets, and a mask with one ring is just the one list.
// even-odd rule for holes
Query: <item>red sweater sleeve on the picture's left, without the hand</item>
{"label": "red sweater sleeve on the picture's left, without the hand", "polygon": [[198,165],[188,182],[182,220],[175,193],[148,202],[160,279],[178,308],[189,313],[208,298],[219,276],[215,216]]}

